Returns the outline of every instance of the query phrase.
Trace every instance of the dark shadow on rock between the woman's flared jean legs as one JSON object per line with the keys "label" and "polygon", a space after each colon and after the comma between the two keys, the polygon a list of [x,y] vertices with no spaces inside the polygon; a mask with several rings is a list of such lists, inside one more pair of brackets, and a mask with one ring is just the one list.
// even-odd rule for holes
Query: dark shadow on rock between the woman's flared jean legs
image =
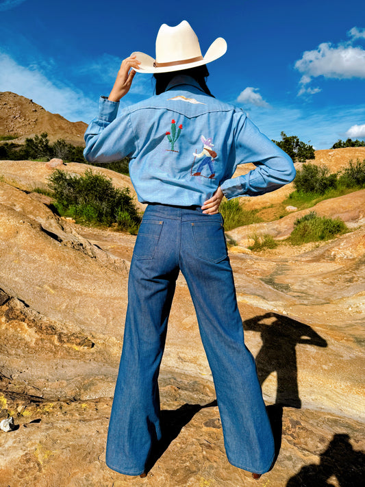
{"label": "dark shadow on rock between the woman's flared jean legs", "polygon": [[187,425],[192,418],[204,408],[213,408],[217,405],[216,400],[200,404],[184,404],[176,410],[162,410],[160,415],[161,439],[156,443],[153,452],[147,462],[146,471],[152,469],[155,462],[164,454],[168,445],[170,445],[181,432],[181,429]]}

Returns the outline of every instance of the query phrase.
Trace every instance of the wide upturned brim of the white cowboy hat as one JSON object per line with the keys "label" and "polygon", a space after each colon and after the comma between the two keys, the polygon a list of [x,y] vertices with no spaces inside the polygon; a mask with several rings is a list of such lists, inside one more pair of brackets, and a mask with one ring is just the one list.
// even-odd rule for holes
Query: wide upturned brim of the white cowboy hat
{"label": "wide upturned brim of the white cowboy hat", "polygon": [[131,55],[136,55],[138,61],[140,61],[140,66],[138,68],[132,68],[137,73],[171,73],[172,71],[181,71],[182,69],[189,69],[194,68],[195,66],[203,66],[203,64],[207,64],[208,62],[215,61],[218,58],[221,58],[223,54],[227,51],[227,42],[222,37],[218,37],[212,44],[210,48],[205,53],[205,56],[200,61],[189,62],[189,63],[182,63],[182,64],[175,64],[174,66],[162,66],[160,68],[156,68],[153,64],[155,60],[151,58],[150,55],[144,54],[141,52],[134,52]]}

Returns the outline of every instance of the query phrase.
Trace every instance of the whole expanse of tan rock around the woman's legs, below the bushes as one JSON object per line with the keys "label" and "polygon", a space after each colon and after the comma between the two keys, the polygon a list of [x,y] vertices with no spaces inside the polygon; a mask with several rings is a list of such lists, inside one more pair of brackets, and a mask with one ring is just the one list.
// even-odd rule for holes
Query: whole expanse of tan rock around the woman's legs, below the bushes
{"label": "whole expanse of tan rock around the woman's legs, below the bushes", "polygon": [[[40,170],[28,170],[27,184],[38,184]],[[20,178],[17,171],[8,166],[7,178]],[[19,425],[0,432],[0,486],[357,485],[364,229],[294,251],[231,253],[264,397],[285,405],[282,435],[281,407],[270,406],[281,450],[259,482],[225,457],[210,369],[179,277],[160,375],[165,451],[140,479],[104,462],[136,237],[64,221],[47,204],[0,183],[0,419],[10,414]]]}

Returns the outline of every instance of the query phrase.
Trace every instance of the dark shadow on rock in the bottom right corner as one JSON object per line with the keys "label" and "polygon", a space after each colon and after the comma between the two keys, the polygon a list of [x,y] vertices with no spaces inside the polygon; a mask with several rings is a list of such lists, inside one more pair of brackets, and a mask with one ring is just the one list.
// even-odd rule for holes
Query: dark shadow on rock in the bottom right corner
{"label": "dark shadow on rock in the bottom right corner", "polygon": [[333,486],[331,477],[336,477],[340,487],[364,485],[365,455],[354,450],[349,440],[348,434],[335,434],[320,454],[320,463],[303,466],[286,487],[329,487]]}

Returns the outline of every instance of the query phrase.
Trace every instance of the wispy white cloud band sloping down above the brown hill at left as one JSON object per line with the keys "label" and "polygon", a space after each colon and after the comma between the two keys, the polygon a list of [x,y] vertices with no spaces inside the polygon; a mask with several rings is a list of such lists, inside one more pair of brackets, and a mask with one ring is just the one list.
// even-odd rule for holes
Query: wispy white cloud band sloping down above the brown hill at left
{"label": "wispy white cloud band sloping down above the brown hill at left", "polygon": [[97,101],[88,99],[75,86],[52,81],[38,66],[25,67],[0,53],[0,91],[12,91],[33,99],[46,110],[70,121],[90,121],[97,113]]}

